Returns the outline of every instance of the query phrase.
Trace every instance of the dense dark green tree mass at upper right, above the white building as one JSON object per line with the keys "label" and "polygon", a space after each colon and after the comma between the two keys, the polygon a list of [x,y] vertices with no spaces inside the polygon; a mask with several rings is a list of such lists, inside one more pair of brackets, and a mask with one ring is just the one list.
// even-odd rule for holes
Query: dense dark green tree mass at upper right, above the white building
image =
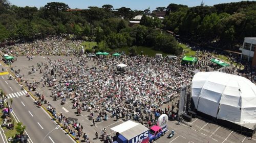
{"label": "dense dark green tree mass at upper right, above the white building", "polygon": [[189,40],[231,49],[242,44],[244,37],[256,36],[256,2],[193,8],[170,4],[166,11],[165,29]]}

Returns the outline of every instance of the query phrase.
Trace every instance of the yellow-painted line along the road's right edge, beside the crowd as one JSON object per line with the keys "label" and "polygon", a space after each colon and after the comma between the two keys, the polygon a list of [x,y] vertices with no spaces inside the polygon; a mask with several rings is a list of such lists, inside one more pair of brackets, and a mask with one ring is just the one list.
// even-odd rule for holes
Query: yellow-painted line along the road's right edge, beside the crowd
{"label": "yellow-painted line along the road's right edge, beside the crowd", "polygon": [[[12,73],[12,71],[10,71],[10,69],[7,69],[7,70],[8,70],[9,73],[12,75],[12,77],[16,80],[16,82],[17,82],[18,84],[20,84],[21,86],[23,86],[23,88],[25,89],[25,91],[30,94],[30,97],[31,97],[33,100],[35,100],[35,99],[36,99],[35,96],[28,90],[28,88],[25,87],[22,83],[20,83],[20,82],[18,81],[18,79],[15,77],[15,75]],[[56,122],[63,130],[65,130],[66,133],[67,133],[71,138],[73,138],[73,139],[75,140],[75,142],[79,143],[79,141],[78,141],[72,134],[70,134],[69,131],[68,131],[66,128],[64,128],[64,126],[63,126],[61,123],[58,122],[57,118],[55,118],[55,117],[52,115],[52,113],[50,113],[50,112],[46,109],[46,107],[44,107],[43,105],[41,105],[41,108],[44,109],[53,119],[55,119],[55,122]],[[56,112],[56,113],[58,114],[58,112]]]}

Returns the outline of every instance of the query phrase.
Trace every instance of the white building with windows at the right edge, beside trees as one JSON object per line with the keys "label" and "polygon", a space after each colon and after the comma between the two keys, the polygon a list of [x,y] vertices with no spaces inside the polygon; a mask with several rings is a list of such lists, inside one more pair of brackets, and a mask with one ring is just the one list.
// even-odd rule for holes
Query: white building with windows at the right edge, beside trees
{"label": "white building with windows at the right edge, beside trees", "polygon": [[245,37],[243,46],[239,49],[242,51],[241,59],[245,59],[252,62],[252,64],[256,64],[256,56],[254,55],[255,49],[256,37]]}

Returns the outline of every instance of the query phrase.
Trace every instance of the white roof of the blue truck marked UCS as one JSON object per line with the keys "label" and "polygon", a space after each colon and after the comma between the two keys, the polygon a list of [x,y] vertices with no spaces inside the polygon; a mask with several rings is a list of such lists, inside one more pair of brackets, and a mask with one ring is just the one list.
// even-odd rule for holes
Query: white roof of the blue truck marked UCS
{"label": "white roof of the blue truck marked UCS", "polygon": [[114,132],[120,133],[127,140],[130,140],[138,136],[139,134],[144,133],[145,131],[148,131],[148,128],[146,128],[145,126],[139,123],[129,120],[111,128],[111,130]]}

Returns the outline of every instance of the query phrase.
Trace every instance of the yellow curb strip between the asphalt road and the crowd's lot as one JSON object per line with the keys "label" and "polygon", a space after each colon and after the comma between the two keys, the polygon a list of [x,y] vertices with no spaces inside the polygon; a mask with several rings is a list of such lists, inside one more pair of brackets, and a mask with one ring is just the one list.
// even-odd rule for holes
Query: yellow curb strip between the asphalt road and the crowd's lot
{"label": "yellow curb strip between the asphalt road and the crowd's lot", "polygon": [[[7,71],[14,77],[14,79],[15,79],[20,85],[23,86],[23,88],[30,94],[30,96],[31,96],[33,99],[36,99],[36,98],[34,97],[34,95],[33,95],[22,83],[20,83],[20,82],[17,80],[16,76],[12,73],[12,71],[10,71],[10,69],[7,69]],[[53,116],[44,106],[41,105],[41,107],[42,107],[42,109],[44,109],[52,118],[54,118],[54,116]],[[57,112],[56,112],[56,113],[57,113]],[[56,120],[56,123],[63,129],[62,124],[59,123],[58,120]],[[67,129],[64,129],[64,130],[65,130],[65,131],[69,134],[69,136],[71,136],[77,143],[79,143],[79,141],[76,140],[76,138],[75,138],[73,135],[71,135]]]}

